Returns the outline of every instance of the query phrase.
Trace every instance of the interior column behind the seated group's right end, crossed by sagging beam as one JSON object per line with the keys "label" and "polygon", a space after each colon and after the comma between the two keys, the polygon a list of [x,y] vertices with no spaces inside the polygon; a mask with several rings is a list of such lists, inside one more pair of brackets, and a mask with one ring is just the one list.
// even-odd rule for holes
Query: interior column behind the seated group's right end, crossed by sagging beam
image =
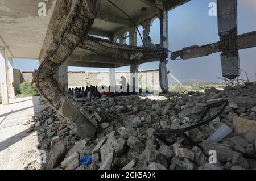
{"label": "interior column behind the seated group's right end, crossed by sagging beam", "polygon": [[[135,28],[130,32],[130,45],[137,46],[137,33]],[[130,66],[130,90],[129,92],[139,93],[139,69],[140,64],[133,64]]]}

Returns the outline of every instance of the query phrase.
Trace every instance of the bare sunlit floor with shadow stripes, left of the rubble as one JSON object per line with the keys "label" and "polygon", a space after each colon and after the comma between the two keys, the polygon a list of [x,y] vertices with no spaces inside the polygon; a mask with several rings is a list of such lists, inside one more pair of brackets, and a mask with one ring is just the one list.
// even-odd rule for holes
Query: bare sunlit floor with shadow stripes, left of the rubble
{"label": "bare sunlit floor with shadow stripes, left of the rubble", "polygon": [[10,105],[0,105],[0,169],[30,168],[40,162],[38,134],[26,121],[47,108],[39,97],[10,99]]}

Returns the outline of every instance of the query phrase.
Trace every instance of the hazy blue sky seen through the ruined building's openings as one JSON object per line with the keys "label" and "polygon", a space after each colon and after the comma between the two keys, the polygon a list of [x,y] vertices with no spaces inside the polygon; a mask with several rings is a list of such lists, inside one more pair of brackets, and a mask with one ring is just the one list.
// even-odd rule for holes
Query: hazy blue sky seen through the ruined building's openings
{"label": "hazy blue sky seen through the ruined building's openings", "polygon": [[[204,45],[219,41],[217,16],[209,16],[209,3],[216,0],[192,0],[168,13],[169,17],[169,49],[180,50],[191,45]],[[238,33],[256,31],[256,1],[238,0]],[[142,32],[142,28],[139,30]],[[153,43],[160,43],[159,19],[151,26],[150,36]],[[138,37],[138,45],[142,45]],[[256,48],[240,50],[241,69],[249,75],[250,81],[256,81]],[[39,66],[36,60],[14,60],[14,68],[34,70]],[[158,69],[159,62],[142,64],[139,70]],[[220,53],[191,60],[169,61],[167,69],[180,81],[199,79],[218,81],[221,77]],[[100,68],[73,68],[69,71],[109,71]],[[118,68],[117,71],[129,71],[129,67]],[[246,75],[241,71],[241,79]]]}

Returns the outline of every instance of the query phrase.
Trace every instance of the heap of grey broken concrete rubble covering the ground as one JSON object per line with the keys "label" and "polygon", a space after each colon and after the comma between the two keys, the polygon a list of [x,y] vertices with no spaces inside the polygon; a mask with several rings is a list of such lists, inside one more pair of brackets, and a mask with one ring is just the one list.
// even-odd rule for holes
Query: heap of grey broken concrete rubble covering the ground
{"label": "heap of grey broken concrete rubble covering the ground", "polygon": [[[255,95],[256,82],[225,87],[224,91],[189,92],[181,98],[172,93],[103,96],[93,98],[91,105],[86,102],[80,106],[97,127],[95,140],[76,136],[57,114],[35,119],[31,129],[38,129],[40,149],[47,151],[44,169],[256,169]],[[225,99],[229,105],[220,116],[187,132],[202,149],[174,135],[167,137],[171,146],[153,136],[154,131],[192,125],[205,106]],[[207,116],[218,110],[210,109]],[[44,117],[51,113],[51,109],[44,111]],[[208,138],[223,125],[230,128],[228,135],[218,142],[210,141]],[[217,152],[216,163],[209,163],[211,150]],[[84,156],[90,156],[90,164],[79,166]]]}

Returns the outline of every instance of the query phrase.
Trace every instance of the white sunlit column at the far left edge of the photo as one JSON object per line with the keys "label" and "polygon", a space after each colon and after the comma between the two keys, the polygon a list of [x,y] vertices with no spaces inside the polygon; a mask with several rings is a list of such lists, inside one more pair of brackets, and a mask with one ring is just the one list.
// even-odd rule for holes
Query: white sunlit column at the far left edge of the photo
{"label": "white sunlit column at the far left edge of the photo", "polygon": [[0,83],[1,83],[2,104],[8,105],[9,98],[8,98],[8,88],[7,88],[5,47],[0,47]]}

